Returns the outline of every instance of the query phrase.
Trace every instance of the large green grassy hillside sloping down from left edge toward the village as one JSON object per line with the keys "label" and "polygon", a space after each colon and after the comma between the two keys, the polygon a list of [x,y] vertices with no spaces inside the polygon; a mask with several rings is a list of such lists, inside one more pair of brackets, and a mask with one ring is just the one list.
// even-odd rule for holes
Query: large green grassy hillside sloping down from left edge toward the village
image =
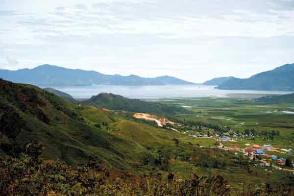
{"label": "large green grassy hillside sloping down from left edge toward the village", "polygon": [[172,138],[180,134],[124,115],[73,104],[36,86],[1,79],[0,157],[16,156],[25,144],[36,142],[44,146],[45,160],[70,165],[85,163],[92,156],[108,168],[123,171],[162,167],[164,163],[154,164],[158,154],[149,147],[174,146]]}

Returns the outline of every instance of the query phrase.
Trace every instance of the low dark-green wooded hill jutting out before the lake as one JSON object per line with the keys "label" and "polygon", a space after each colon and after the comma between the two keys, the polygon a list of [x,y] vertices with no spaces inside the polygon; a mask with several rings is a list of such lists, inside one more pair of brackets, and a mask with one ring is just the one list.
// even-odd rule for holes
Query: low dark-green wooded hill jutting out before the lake
{"label": "low dark-green wooded hill jutting out before the lake", "polygon": [[140,99],[125,98],[120,95],[100,93],[83,102],[110,110],[124,110],[129,112],[149,113],[158,115],[175,115],[177,113],[191,113],[189,110],[173,105]]}

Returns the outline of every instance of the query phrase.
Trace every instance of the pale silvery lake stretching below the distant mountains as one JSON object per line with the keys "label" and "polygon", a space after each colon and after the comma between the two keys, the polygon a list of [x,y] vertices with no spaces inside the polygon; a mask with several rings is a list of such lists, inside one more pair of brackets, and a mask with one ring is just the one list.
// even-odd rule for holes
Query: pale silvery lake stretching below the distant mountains
{"label": "pale silvery lake stretching below the distant mountains", "polygon": [[[289,94],[282,91],[236,91],[219,90],[215,86],[205,85],[165,85],[165,86],[80,86],[80,87],[52,87],[73,96],[73,98],[91,98],[99,93],[113,93],[127,98],[201,98],[228,97],[228,94]],[[245,95],[245,97],[246,97]]]}

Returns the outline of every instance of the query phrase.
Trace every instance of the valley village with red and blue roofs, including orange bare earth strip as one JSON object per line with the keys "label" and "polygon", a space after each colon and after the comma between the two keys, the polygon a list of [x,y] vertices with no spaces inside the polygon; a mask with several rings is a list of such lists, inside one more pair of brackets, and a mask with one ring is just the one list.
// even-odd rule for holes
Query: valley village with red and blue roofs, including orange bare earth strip
{"label": "valley village with red and blue roofs, including orange bare earth strip", "polygon": [[[167,118],[157,118],[155,115],[143,113],[134,114],[134,118],[155,121],[160,127],[171,129],[191,138],[213,139],[217,144],[215,147],[226,151],[235,151],[236,155],[242,153],[244,157],[248,157],[249,160],[255,161],[257,163],[255,166],[264,167],[265,171],[272,172],[273,169],[276,169],[294,173],[294,162],[291,161],[291,159],[283,157],[283,155],[294,157],[291,153],[292,149],[285,149],[266,144],[267,140],[263,145],[257,145],[251,142],[255,140],[255,137],[263,137],[265,132],[257,132],[254,129],[240,132],[234,131],[226,126],[215,126],[215,128],[213,128],[213,125],[204,123],[200,125],[191,122],[174,123]],[[266,132],[266,135],[269,138],[273,138],[274,135],[278,134],[279,133],[275,131],[271,131],[270,135]],[[242,142],[242,145],[240,145],[240,142]],[[270,167],[271,170],[268,170],[267,167]]]}

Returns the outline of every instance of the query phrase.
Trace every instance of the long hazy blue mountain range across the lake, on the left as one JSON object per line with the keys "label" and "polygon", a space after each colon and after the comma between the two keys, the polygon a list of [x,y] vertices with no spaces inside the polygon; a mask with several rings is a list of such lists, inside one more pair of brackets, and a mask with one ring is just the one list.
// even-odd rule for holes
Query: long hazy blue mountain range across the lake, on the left
{"label": "long hazy blue mountain range across the lake, on the left", "polygon": [[186,85],[194,84],[171,76],[145,78],[138,75],[106,75],[95,71],[73,70],[52,65],[17,71],[0,70],[0,78],[37,86],[89,86],[89,85]]}

